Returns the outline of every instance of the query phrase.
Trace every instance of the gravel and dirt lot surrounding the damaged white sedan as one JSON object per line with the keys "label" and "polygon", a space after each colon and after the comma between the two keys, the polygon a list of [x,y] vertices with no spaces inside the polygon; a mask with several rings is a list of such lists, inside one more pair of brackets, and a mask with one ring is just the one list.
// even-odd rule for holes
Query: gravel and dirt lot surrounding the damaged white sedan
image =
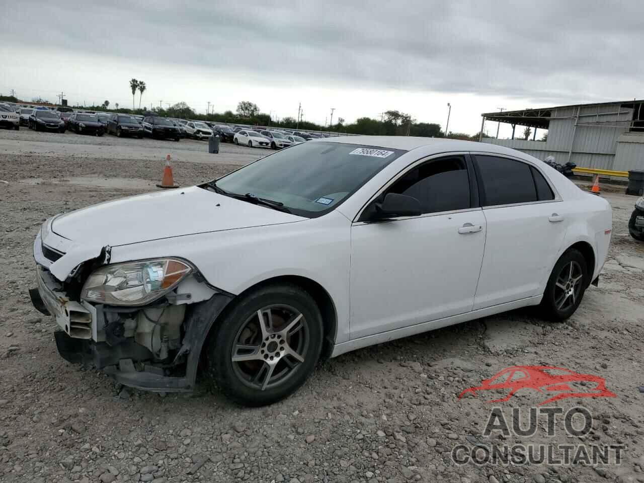
{"label": "gravel and dirt lot surrounding the damaged white sedan", "polygon": [[[567,323],[520,310],[366,348],[321,365],[294,396],[247,409],[210,393],[122,390],[55,350],[49,317],[32,308],[32,242],[53,214],[154,188],[162,158],[182,185],[263,154],[204,142],[0,131],[0,480],[5,482],[644,482],[644,245],[627,220],[634,197],[606,193],[614,224],[609,261]],[[61,154],[62,153],[62,154]],[[194,155],[194,160],[191,156]],[[587,408],[585,437],[482,435],[491,408],[530,406],[459,393],[513,365],[553,365],[606,379],[616,397],[550,406]],[[510,418],[508,423],[511,424]],[[523,424],[525,426],[525,424]],[[623,445],[619,465],[454,464],[458,444]],[[201,466],[200,464],[203,463]]]}

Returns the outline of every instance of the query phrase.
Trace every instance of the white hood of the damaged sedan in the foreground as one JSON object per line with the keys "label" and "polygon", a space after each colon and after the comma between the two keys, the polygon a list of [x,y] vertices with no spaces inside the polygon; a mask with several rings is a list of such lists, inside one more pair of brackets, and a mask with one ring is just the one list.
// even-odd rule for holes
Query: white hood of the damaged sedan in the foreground
{"label": "white hood of the damaged sedan in the foreground", "polygon": [[129,245],[189,234],[305,220],[198,186],[100,203],[57,216],[52,231],[88,245]]}

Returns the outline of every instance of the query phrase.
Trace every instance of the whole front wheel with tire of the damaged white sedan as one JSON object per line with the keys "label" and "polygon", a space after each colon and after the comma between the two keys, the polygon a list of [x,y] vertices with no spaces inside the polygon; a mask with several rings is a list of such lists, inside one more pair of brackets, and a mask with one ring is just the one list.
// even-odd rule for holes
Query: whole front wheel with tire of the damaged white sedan
{"label": "whole front wheel with tire of the damaged white sedan", "polygon": [[218,321],[207,347],[207,371],[236,403],[276,403],[313,372],[322,339],[322,317],[307,292],[290,284],[262,287]]}

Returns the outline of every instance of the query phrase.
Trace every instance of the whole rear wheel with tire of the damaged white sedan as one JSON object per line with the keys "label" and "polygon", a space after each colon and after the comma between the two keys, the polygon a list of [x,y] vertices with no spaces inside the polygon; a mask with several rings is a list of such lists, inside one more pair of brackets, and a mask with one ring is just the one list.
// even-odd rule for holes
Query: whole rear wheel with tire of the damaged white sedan
{"label": "whole rear wheel with tire of the damaged white sedan", "polygon": [[588,287],[588,267],[581,252],[570,249],[560,256],[550,274],[541,301],[545,316],[561,322],[574,314]]}

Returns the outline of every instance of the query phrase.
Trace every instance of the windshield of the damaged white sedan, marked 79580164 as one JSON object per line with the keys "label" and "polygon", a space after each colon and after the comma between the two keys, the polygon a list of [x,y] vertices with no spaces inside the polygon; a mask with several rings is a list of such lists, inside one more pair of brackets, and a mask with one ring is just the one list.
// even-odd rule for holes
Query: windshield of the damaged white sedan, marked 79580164
{"label": "windshield of the damaged white sedan, marked 79580164", "polygon": [[281,202],[292,213],[314,218],[348,196],[401,156],[399,149],[339,142],[305,142],[220,178],[229,193],[252,193]]}

